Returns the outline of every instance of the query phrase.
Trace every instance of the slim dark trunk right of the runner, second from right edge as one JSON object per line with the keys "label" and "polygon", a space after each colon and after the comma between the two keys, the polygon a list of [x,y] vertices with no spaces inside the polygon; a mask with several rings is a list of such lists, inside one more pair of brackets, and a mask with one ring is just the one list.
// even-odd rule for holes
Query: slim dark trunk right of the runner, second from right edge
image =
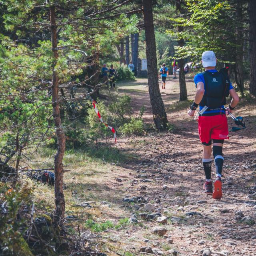
{"label": "slim dark trunk right of the runner, second from right edge", "polygon": [[243,55],[244,55],[244,42],[243,42],[243,26],[242,26],[242,2],[237,2],[236,4],[236,70],[235,79],[236,84],[239,87],[241,96],[244,97],[244,65],[243,65]]}

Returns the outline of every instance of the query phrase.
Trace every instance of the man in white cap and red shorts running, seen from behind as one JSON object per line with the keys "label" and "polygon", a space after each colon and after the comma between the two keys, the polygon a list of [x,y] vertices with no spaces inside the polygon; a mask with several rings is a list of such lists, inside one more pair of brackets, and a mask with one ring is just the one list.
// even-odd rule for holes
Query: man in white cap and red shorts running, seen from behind
{"label": "man in white cap and red shorts running, seen from behind", "polygon": [[[216,57],[214,52],[206,51],[202,54],[202,64],[205,72],[194,77],[196,84],[196,96],[188,111],[189,116],[194,116],[198,105],[202,110],[198,118],[198,131],[200,141],[203,144],[203,166],[206,176],[204,189],[207,194],[212,194],[214,199],[222,197],[221,174],[224,162],[222,146],[224,139],[228,138],[228,123],[225,114],[232,113],[239,102],[239,97],[235,92],[227,75],[215,69]],[[224,109],[226,96],[232,97],[230,105]],[[205,111],[203,108],[208,107]],[[212,167],[212,140],[213,156],[216,168],[216,180],[212,191],[211,167]]]}

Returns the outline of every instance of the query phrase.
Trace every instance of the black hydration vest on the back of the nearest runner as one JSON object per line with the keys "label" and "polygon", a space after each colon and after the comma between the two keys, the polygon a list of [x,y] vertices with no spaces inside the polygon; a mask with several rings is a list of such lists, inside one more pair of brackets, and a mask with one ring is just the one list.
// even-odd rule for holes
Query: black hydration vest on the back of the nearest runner
{"label": "black hydration vest on the back of the nearest runner", "polygon": [[204,76],[205,92],[200,102],[200,106],[208,108],[221,108],[226,104],[226,97],[229,95],[230,80],[225,70],[220,72],[205,71]]}

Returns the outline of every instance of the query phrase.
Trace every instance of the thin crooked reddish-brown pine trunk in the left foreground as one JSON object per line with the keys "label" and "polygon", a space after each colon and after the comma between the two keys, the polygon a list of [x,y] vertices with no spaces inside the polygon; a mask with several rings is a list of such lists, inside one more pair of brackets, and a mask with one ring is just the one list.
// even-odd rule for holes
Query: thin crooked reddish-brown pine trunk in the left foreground
{"label": "thin crooked reddish-brown pine trunk in the left foreground", "polygon": [[58,139],[57,154],[54,158],[54,195],[55,195],[55,210],[54,210],[54,222],[62,225],[64,221],[65,213],[65,200],[63,194],[63,165],[62,160],[65,150],[66,137],[60,120],[60,108],[59,108],[59,97],[58,97],[58,76],[55,70],[55,66],[58,59],[57,48],[57,26],[55,21],[55,6],[50,7],[50,22],[51,22],[51,40],[52,40],[52,52],[54,61],[52,62],[52,108],[53,118],[56,130],[56,136]]}

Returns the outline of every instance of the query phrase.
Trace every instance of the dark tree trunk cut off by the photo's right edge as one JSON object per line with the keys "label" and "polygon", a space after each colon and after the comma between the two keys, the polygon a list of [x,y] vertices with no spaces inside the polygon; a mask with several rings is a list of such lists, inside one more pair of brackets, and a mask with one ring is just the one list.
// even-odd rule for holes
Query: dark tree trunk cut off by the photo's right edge
{"label": "dark tree trunk cut off by the photo's right edge", "polygon": [[256,96],[256,1],[249,0],[250,93]]}

